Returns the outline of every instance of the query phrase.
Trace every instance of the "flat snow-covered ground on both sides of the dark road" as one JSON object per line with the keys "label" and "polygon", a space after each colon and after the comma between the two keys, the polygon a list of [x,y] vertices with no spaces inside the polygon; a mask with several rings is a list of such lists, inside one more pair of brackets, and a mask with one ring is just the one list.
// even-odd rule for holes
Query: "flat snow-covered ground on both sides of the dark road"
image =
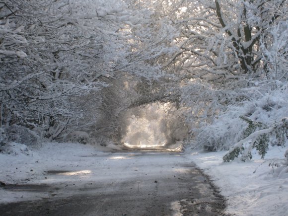
{"label": "flat snow-covered ground on both sides of the dark road", "polygon": [[[46,143],[39,149],[27,149],[26,145],[11,143],[9,149],[10,154],[0,154],[1,182],[54,184],[60,188],[57,196],[69,195],[69,187],[74,187],[71,182],[77,184],[77,187],[86,187],[95,178],[109,181],[116,171],[117,175],[120,175],[119,178],[129,178],[130,175],[135,175],[137,170],[132,165],[131,170],[129,168],[119,171],[123,163],[131,163],[135,159],[131,153],[122,152],[118,155],[104,152],[103,148],[100,151],[99,148],[88,144]],[[184,156],[187,162],[195,162],[212,177],[216,186],[221,189],[222,195],[228,199],[227,213],[237,216],[288,216],[288,173],[279,175],[281,167],[275,166],[276,163],[285,161],[285,150],[286,148],[278,146],[271,147],[265,159],[261,159],[254,152],[253,159],[248,162],[235,160],[223,163],[224,151],[187,151]],[[161,167],[155,165],[154,168],[154,173],[161,171]],[[53,173],[53,170],[62,172]],[[55,192],[39,194],[17,189],[4,190],[0,187],[0,203],[51,196],[55,196]]]}

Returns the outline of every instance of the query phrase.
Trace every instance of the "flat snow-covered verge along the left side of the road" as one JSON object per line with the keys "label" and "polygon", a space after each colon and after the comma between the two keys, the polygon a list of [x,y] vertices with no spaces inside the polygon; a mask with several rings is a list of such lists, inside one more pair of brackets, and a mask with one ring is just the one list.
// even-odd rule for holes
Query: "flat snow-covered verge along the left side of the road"
{"label": "flat snow-covered verge along the left side of the road", "polygon": [[[113,148],[112,145],[110,147]],[[62,189],[64,184],[69,185],[71,181],[78,185],[86,184],[103,170],[106,172],[107,160],[104,158],[103,161],[103,157],[111,154],[104,152],[108,150],[109,147],[98,146],[96,149],[89,144],[44,143],[40,148],[32,148],[10,142],[2,147],[0,153],[0,203],[55,195],[55,192],[51,192],[52,189],[35,192],[34,185],[59,188],[57,194],[65,195],[69,190]],[[94,157],[96,155],[100,157]],[[22,190],[21,186],[25,185],[32,190]],[[4,187],[12,190],[5,190]]]}

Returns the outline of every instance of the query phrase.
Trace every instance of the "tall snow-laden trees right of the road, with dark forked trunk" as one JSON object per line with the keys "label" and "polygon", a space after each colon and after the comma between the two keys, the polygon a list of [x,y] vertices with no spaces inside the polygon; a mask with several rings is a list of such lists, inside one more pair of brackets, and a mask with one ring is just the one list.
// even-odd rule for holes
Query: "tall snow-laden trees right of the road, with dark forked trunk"
{"label": "tall snow-laden trees right of the road, with dark forked trunk", "polygon": [[[169,28],[176,29],[176,33],[170,34],[170,41],[154,48],[163,50],[166,46],[170,50],[153,61],[160,64],[166,78],[158,79],[156,85],[154,81],[143,81],[146,92],[142,92],[141,101],[148,103],[154,98],[167,96],[168,99],[177,95],[181,116],[191,128],[190,143],[198,136],[205,137],[205,128],[213,126],[231,106],[260,100],[275,86],[284,91],[287,81],[286,1],[134,2],[138,8],[142,6],[154,12],[153,24],[169,23]],[[148,38],[156,37],[152,33]],[[152,97],[154,92],[159,95]],[[223,140],[218,139],[219,145],[214,145],[212,137],[207,147],[221,148]]]}

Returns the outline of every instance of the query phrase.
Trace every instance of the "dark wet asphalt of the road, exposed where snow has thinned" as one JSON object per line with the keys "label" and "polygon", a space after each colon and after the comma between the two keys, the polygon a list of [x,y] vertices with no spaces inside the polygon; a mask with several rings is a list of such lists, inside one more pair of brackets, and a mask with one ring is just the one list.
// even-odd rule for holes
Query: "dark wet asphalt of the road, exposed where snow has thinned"
{"label": "dark wet asphalt of the road, exposed where snow has thinned", "polygon": [[[117,153],[117,155],[121,153]],[[167,156],[163,156],[166,154]],[[70,188],[58,196],[55,185],[5,185],[4,190],[50,191],[49,198],[0,204],[1,216],[221,216],[225,199],[210,178],[180,153],[142,151],[135,154],[137,174]],[[147,158],[148,157],[148,158]],[[167,163],[167,157],[177,157]],[[155,161],[153,161],[155,158]],[[163,160],[161,159],[163,158]],[[178,159],[179,158],[179,159]],[[157,164],[155,164],[155,162]],[[123,167],[127,170],[131,167]],[[145,166],[145,169],[142,167]],[[161,167],[158,173],[147,172]],[[123,170],[120,170],[123,171]],[[48,170],[53,175],[59,170]],[[50,172],[50,173],[49,173]],[[73,182],[71,182],[72,184]]]}

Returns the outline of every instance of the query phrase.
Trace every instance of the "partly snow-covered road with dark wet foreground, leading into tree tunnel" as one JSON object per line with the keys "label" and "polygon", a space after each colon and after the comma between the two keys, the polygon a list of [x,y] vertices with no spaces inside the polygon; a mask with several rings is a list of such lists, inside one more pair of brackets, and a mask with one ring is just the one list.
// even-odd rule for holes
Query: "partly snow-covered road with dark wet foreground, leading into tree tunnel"
{"label": "partly snow-covered road with dark wet foreground, leading into tree tunnel", "polygon": [[[182,153],[116,152],[83,155],[82,160],[91,162],[91,166],[81,167],[81,170],[85,168],[90,171],[77,171],[69,165],[62,166],[61,169],[49,167],[44,172],[48,179],[55,182],[51,180],[41,185],[5,185],[5,190],[22,190],[26,193],[33,191],[49,196],[1,204],[0,215],[224,215],[223,197],[210,179]],[[71,173],[82,175],[80,178]]]}

